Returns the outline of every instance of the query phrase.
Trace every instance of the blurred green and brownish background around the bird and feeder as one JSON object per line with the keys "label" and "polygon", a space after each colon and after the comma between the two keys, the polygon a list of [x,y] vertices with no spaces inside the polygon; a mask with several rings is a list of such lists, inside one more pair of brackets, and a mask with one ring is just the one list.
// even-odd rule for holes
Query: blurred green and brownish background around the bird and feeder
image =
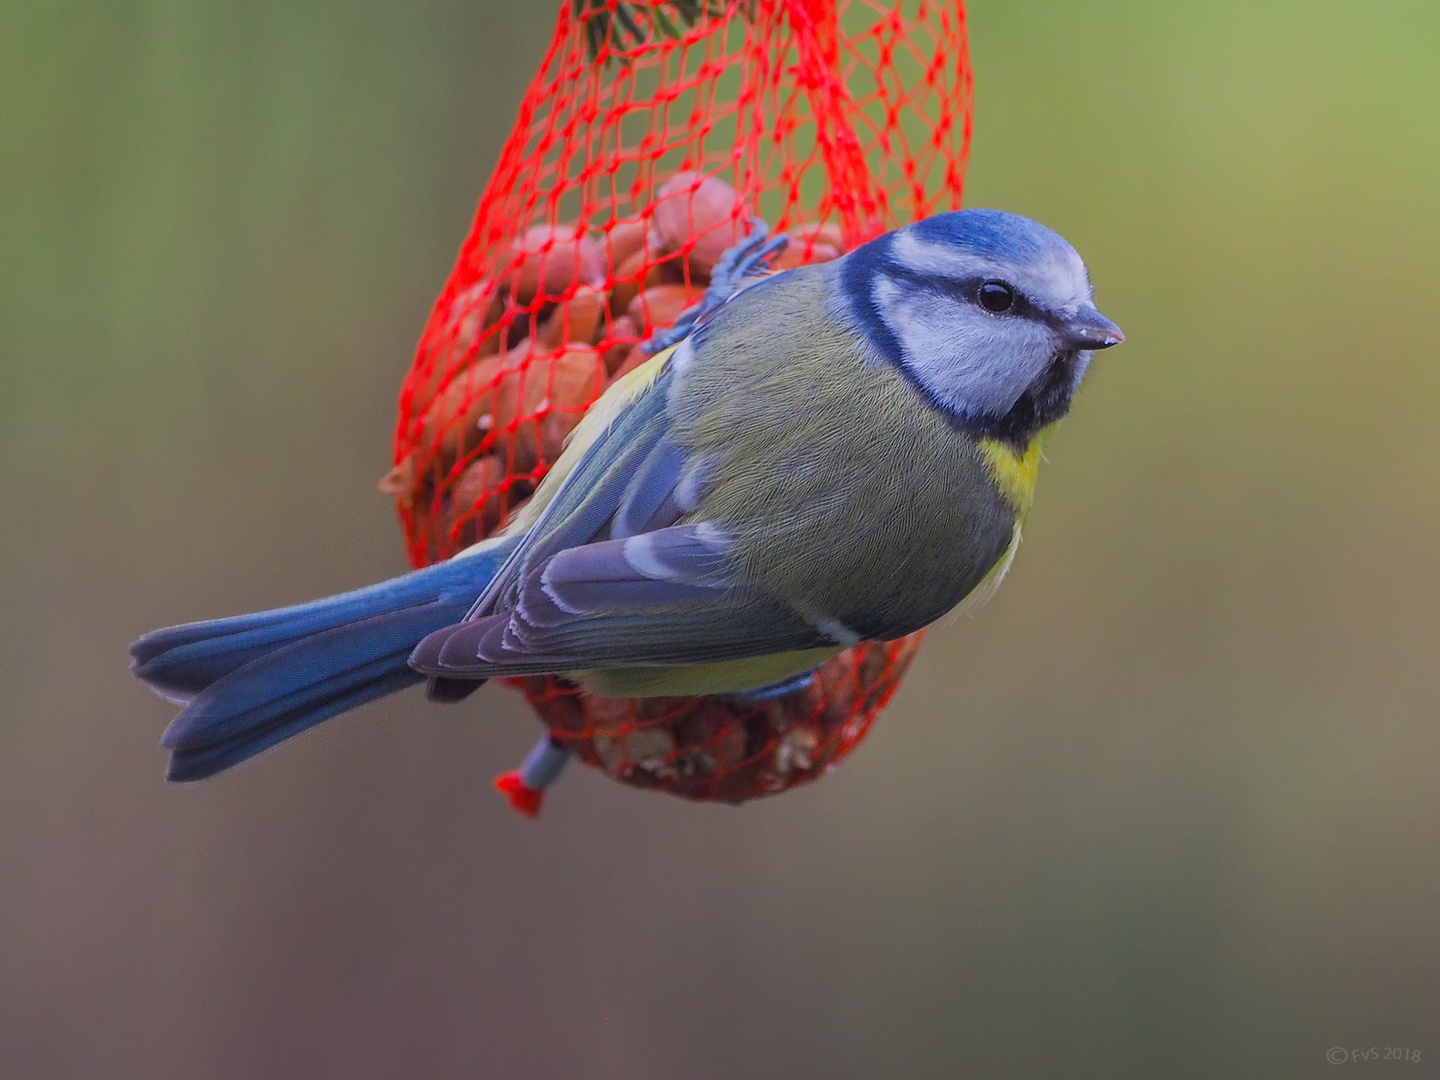
{"label": "blurred green and brownish background around the bird and feeder", "polygon": [[966,202],[1129,341],[834,776],[534,825],[487,688],[161,782],[131,638],[403,567],[553,9],[0,7],[0,1076],[1440,1076],[1433,0],[973,0]]}

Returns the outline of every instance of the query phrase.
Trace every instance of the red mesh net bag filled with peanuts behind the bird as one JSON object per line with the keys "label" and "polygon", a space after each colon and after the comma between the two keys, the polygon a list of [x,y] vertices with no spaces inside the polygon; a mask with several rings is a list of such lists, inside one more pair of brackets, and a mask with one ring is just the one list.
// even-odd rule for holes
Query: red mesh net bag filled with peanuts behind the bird
{"label": "red mesh net bag filled with peanuts behind the bird", "polygon": [[[564,0],[400,387],[382,490],[412,563],[503,527],[753,216],[791,236],[773,268],[834,259],[956,209],[969,132],[960,0]],[[513,683],[615,779],[740,802],[850,753],[917,638],[750,704]]]}

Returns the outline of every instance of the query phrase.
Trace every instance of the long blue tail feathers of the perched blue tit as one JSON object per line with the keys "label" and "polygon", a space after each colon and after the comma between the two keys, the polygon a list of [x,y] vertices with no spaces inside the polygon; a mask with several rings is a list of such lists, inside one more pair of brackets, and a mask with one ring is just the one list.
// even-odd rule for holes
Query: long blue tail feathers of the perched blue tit
{"label": "long blue tail feathers of the perched blue tit", "polygon": [[171,780],[200,780],[321,720],[420,683],[406,662],[459,622],[518,543],[505,537],[423,570],[294,608],[154,631],[131,671],[184,710],[160,744]]}

